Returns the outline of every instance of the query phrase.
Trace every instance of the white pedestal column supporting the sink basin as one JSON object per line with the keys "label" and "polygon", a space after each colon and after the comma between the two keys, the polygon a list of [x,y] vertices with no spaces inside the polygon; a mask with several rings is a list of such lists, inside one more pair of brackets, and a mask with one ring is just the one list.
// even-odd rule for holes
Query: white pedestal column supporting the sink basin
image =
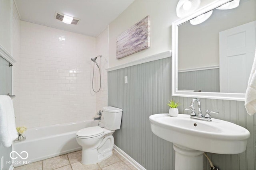
{"label": "white pedestal column supporting the sink basin", "polygon": [[173,144],[175,150],[175,170],[203,170],[204,152]]}

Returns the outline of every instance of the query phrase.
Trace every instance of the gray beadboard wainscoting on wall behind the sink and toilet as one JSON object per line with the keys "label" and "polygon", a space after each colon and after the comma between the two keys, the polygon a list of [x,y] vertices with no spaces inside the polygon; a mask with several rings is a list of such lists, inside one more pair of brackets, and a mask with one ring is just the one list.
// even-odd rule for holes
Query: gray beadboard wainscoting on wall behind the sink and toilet
{"label": "gray beadboard wainscoting on wall behind the sink and toilet", "polygon": [[[128,76],[128,84],[124,84],[124,76]],[[123,109],[121,129],[114,133],[115,145],[147,170],[174,170],[172,143],[152,134],[148,120],[152,114],[168,113],[166,103],[171,98],[182,103],[178,108],[180,113],[189,114],[184,107],[189,106],[192,98],[171,96],[171,58],[108,72],[108,106]],[[213,115],[214,118],[246,127],[251,133],[244,153],[208,153],[213,164],[220,170],[255,170],[255,116],[246,114],[244,102],[200,100],[202,110],[220,111],[218,115]],[[204,169],[210,169],[206,158]]]}

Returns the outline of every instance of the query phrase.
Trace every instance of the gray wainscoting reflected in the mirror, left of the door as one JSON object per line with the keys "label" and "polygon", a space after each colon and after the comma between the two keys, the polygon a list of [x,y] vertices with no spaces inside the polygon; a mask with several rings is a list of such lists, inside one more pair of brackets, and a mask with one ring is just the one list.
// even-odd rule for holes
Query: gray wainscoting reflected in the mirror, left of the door
{"label": "gray wainscoting reflected in the mirror, left of the door", "polygon": [[219,68],[178,72],[178,90],[202,90],[203,92],[220,92]]}

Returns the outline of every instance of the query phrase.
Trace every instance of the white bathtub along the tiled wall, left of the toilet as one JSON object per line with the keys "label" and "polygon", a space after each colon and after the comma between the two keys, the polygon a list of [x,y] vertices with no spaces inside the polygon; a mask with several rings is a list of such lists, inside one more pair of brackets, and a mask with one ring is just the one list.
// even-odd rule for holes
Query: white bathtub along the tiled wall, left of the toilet
{"label": "white bathtub along the tiled wall, left of the toilet", "polygon": [[[13,153],[12,157],[17,157],[13,159],[14,166],[81,150],[82,147],[76,142],[76,132],[85,127],[98,126],[98,123],[100,122],[91,120],[28,128],[25,132],[26,140],[14,143],[14,151],[18,154],[26,151],[28,158],[25,160],[20,158],[20,156],[26,157],[25,152],[20,156]],[[103,127],[102,124],[100,126]]]}

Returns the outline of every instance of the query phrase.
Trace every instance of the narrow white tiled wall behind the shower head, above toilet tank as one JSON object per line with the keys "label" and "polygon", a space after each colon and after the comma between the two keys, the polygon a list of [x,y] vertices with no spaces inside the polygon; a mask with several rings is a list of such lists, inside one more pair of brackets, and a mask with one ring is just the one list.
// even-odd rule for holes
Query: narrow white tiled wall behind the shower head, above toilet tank
{"label": "narrow white tiled wall behind the shower head, above toilet tank", "polygon": [[[101,70],[101,90],[96,93],[96,111],[102,110],[102,107],[108,106],[108,28],[106,28],[98,37],[96,37],[96,56],[102,55],[101,59],[97,59]],[[95,89],[98,90],[100,86],[99,72],[95,64]]]}

